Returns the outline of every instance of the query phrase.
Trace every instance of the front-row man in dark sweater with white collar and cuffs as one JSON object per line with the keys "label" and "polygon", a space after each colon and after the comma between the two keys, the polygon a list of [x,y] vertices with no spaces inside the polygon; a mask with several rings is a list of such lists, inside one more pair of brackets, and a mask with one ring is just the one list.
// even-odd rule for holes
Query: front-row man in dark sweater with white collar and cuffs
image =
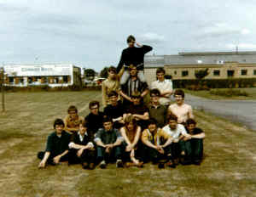
{"label": "front-row man in dark sweater with white collar and cuffs", "polygon": [[87,130],[86,121],[79,123],[79,132],[73,133],[71,142],[68,145],[70,154],[68,156],[69,164],[81,163],[84,169],[94,169],[96,150],[94,149],[93,134]]}

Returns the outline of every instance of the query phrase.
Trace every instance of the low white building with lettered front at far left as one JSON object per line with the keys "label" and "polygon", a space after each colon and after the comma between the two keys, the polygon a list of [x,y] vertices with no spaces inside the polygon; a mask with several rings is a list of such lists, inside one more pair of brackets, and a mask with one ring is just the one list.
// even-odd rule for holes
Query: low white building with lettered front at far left
{"label": "low white building with lettered front at far left", "polygon": [[4,65],[6,85],[67,87],[81,84],[81,68],[74,65]]}

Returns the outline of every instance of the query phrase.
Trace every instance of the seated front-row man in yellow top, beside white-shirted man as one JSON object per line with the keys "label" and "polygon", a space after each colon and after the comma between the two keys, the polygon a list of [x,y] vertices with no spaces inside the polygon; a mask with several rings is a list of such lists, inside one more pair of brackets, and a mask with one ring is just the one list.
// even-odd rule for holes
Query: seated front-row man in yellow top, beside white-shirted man
{"label": "seated front-row man in yellow top, beside white-shirted man", "polygon": [[159,168],[164,168],[165,163],[173,167],[170,147],[172,136],[158,128],[154,119],[149,119],[148,128],[143,131],[142,141],[144,161],[158,163]]}

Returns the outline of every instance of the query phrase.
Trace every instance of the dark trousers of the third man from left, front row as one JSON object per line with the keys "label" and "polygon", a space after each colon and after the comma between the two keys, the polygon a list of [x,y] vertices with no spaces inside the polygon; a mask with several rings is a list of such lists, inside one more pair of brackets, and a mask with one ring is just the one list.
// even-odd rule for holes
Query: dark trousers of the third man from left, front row
{"label": "dark trousers of the third man from left, front row", "polygon": [[97,161],[105,160],[106,162],[114,162],[115,160],[122,160],[124,147],[122,145],[115,146],[106,153],[106,149],[102,146],[97,146]]}

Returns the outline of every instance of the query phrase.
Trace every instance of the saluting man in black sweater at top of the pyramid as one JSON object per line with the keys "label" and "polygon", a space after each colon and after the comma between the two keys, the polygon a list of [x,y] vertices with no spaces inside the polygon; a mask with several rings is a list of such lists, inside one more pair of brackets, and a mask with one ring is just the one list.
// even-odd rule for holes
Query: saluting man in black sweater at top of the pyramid
{"label": "saluting man in black sweater at top of the pyramid", "polygon": [[[144,78],[144,55],[151,51],[153,48],[147,45],[141,45],[136,42],[135,37],[130,35],[127,38],[128,48],[125,48],[122,52],[121,59],[119,61],[119,65],[117,67],[117,72],[122,69],[123,66],[125,66],[125,71],[123,76],[121,77],[120,84],[125,84],[125,82],[129,78],[129,70],[128,66],[135,65],[138,70],[138,78],[141,82],[145,82]],[[137,45],[138,48],[136,48],[134,45]]]}

